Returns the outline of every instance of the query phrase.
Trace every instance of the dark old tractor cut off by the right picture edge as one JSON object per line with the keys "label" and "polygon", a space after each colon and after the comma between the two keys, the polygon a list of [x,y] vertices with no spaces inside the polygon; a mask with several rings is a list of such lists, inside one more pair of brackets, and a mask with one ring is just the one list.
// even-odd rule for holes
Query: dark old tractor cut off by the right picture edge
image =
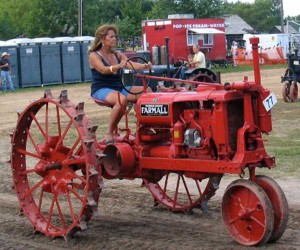
{"label": "dark old tractor cut off by the right picture edge", "polygon": [[288,54],[288,68],[285,71],[284,76],[281,77],[282,97],[285,102],[294,102],[298,98],[298,85],[300,82],[300,56],[298,55],[298,49],[295,49],[295,53]]}

